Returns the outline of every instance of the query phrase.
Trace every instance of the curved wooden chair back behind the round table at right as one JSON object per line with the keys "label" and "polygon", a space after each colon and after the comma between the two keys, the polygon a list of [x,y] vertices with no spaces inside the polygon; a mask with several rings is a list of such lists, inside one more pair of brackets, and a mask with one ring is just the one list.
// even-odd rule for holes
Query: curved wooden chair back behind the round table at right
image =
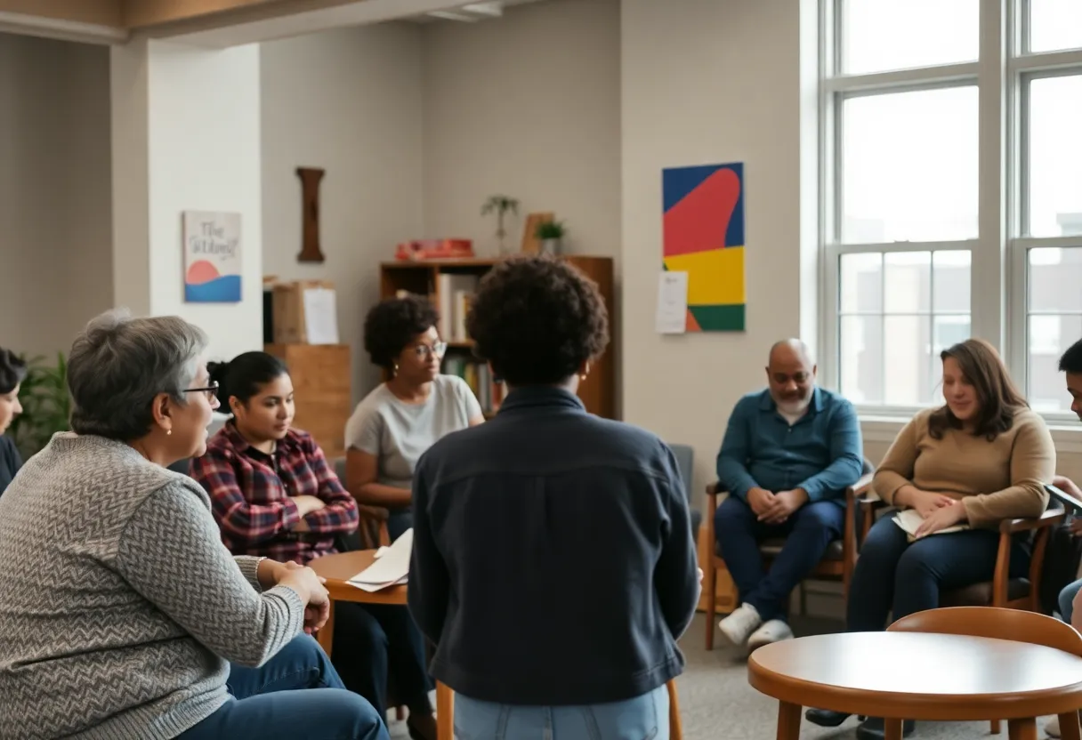
{"label": "curved wooden chair back behind the round table at right", "polygon": [[1054,617],[1024,609],[999,607],[944,607],[902,617],[887,627],[890,632],[933,632],[1013,639],[1044,645],[1082,657],[1082,635]]}

